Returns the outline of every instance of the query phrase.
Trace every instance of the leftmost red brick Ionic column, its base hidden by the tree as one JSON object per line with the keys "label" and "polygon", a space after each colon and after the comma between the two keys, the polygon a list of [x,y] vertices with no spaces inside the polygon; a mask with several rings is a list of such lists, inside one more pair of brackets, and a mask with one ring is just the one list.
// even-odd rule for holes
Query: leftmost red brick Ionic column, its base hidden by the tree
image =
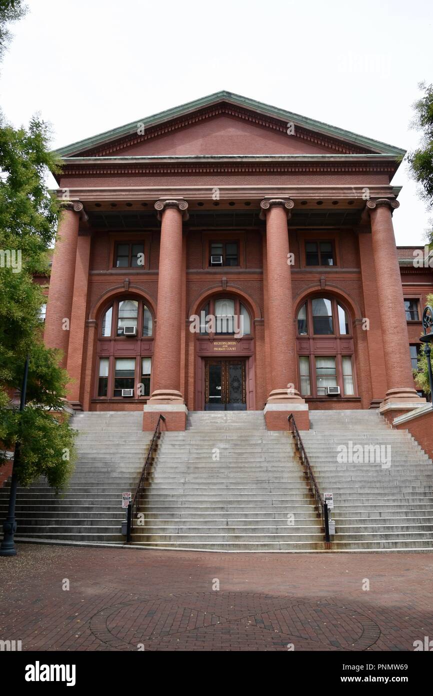
{"label": "leftmost red brick Ionic column, its base hidden by the tree", "polygon": [[44,342],[49,348],[63,351],[62,367],[67,364],[67,351],[71,320],[72,296],[76,264],[76,244],[82,203],[66,203],[58,224],[58,238],[54,248],[53,264],[49,280],[47,316],[45,319]]}

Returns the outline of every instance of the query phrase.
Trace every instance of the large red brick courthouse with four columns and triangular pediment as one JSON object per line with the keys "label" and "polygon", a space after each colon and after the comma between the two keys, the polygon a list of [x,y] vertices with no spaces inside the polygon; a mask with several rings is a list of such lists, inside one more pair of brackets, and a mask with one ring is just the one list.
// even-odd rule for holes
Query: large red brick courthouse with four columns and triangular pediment
{"label": "large red brick courthouse with four columns and triangular pediment", "polygon": [[420,405],[433,278],[395,247],[404,152],[227,92],[58,150],[45,340],[74,408],[304,429],[309,409]]}

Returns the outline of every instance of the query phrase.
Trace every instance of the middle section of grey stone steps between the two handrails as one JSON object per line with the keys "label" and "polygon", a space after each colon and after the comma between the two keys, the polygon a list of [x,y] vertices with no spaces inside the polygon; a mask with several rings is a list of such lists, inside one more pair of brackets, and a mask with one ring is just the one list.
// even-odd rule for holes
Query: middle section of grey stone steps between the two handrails
{"label": "middle section of grey stone steps between the two handrails", "polygon": [[204,551],[322,551],[313,498],[288,432],[262,411],[193,411],[165,432],[133,544]]}

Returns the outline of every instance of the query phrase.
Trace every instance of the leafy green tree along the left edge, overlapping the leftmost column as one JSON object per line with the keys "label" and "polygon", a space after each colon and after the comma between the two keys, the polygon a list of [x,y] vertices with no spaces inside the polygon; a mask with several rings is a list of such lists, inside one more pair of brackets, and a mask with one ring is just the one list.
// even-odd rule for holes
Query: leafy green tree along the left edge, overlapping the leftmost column
{"label": "leafy green tree along the left edge, overlapping the leftmost column", "polygon": [[[8,39],[6,22],[24,13],[22,3],[3,0],[0,56]],[[44,294],[35,274],[49,274],[49,248],[56,237],[60,207],[44,176],[56,168],[49,153],[47,125],[39,118],[28,129],[14,129],[0,114],[0,465],[6,450],[19,443],[14,470],[21,484],[40,475],[64,487],[74,459],[74,431],[63,406],[67,372],[60,351],[42,339],[39,313]],[[29,356],[27,405],[16,408],[13,395],[22,383]],[[55,418],[53,413],[62,413]]]}

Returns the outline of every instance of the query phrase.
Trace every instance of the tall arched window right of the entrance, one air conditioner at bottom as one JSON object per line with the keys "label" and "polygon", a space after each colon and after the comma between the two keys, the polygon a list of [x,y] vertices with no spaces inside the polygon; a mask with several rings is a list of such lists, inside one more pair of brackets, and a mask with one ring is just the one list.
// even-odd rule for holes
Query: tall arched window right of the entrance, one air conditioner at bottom
{"label": "tall arched window right of the entrance, one air conditioner at bottom", "polygon": [[308,299],[297,312],[297,335],[302,395],[356,395],[352,325],[343,305],[334,297]]}

